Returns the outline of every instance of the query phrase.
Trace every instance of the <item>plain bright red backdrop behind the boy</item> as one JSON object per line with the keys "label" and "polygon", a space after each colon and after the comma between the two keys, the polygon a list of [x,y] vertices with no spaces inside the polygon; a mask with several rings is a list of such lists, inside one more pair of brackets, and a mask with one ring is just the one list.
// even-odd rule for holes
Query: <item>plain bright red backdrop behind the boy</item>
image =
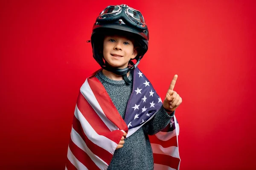
{"label": "plain bright red backdrop behind the boy", "polygon": [[2,0],[0,169],[64,170],[79,88],[99,68],[86,40],[122,3],[145,17],[139,68],[162,99],[179,76],[180,170],[256,169],[253,0]]}

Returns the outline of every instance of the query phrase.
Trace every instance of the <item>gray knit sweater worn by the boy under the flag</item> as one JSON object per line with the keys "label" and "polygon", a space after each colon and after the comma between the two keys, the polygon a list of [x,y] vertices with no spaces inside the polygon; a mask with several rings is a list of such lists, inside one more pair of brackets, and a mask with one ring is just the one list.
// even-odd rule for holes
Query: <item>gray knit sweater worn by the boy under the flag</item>
{"label": "gray knit sweater worn by the boy under the flag", "polygon": [[[124,119],[133,84],[125,85],[124,80],[109,79],[102,71],[99,71],[95,77],[102,82],[117,111]],[[128,79],[133,81],[133,71]],[[126,138],[122,148],[115,150],[108,170],[153,170],[153,153],[148,135],[153,135],[166,127],[173,114],[168,115],[162,106],[153,119]]]}

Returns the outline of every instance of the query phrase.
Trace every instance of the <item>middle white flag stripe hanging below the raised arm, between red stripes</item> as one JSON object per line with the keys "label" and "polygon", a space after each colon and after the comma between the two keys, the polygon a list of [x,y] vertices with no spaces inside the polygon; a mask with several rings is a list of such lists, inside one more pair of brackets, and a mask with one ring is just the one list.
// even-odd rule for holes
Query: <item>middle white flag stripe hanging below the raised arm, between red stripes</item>
{"label": "middle white flag stripe hanging below the raised arm, between red stripes", "polygon": [[180,158],[179,150],[178,150],[178,147],[176,146],[162,147],[160,144],[151,143],[151,147],[152,147],[153,153],[169,155],[175,158]]}

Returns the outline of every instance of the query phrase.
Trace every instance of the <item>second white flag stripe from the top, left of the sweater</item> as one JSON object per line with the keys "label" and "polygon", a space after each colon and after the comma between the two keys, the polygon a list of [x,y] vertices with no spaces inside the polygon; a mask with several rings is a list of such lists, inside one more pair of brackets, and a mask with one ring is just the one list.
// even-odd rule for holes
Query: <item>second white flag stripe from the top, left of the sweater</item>
{"label": "second white flag stripe from the top, left of the sweater", "polygon": [[116,142],[113,142],[111,139],[108,139],[107,137],[96,133],[93,127],[91,127],[89,122],[87,122],[82,113],[79,111],[77,105],[75,109],[75,116],[80,121],[87,138],[94,144],[98,145],[99,147],[102,147],[103,149],[107,150],[109,153],[113,155],[115,151],[113,148],[117,147]]}

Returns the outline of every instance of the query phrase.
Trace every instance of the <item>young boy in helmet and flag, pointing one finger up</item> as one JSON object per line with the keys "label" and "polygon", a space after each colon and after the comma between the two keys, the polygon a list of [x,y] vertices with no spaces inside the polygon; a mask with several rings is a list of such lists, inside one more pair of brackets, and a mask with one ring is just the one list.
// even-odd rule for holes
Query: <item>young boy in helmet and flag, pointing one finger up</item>
{"label": "young boy in helmet and flag, pointing one finger up", "polygon": [[[175,149],[168,150],[170,145],[164,144],[178,133],[174,113],[182,99],[173,91],[177,75],[162,103],[137,68],[148,39],[142,14],[127,5],[108,6],[97,17],[91,43],[102,69],[80,89],[66,169],[178,169],[177,146],[171,144]],[[171,133],[160,132],[163,129]],[[154,134],[149,141],[148,135]],[[161,156],[166,159],[168,154],[163,161]]]}

